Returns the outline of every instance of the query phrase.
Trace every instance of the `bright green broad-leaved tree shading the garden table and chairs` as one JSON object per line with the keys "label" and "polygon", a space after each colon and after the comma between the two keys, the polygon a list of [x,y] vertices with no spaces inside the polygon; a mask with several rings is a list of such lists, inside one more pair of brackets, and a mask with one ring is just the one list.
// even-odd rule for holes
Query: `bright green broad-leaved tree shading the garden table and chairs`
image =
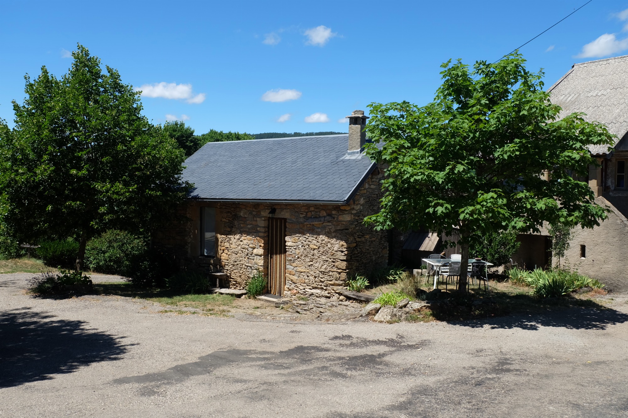
{"label": "bright green broad-leaved tree shading the garden table and chairs", "polygon": [[514,53],[497,63],[444,63],[434,102],[371,104],[368,156],[384,163],[381,211],[366,223],[378,229],[460,233],[467,282],[470,236],[511,228],[538,232],[544,221],[592,228],[607,216],[595,204],[587,175],[597,164],[589,144],[612,135],[582,113],[558,119],[561,108]]}

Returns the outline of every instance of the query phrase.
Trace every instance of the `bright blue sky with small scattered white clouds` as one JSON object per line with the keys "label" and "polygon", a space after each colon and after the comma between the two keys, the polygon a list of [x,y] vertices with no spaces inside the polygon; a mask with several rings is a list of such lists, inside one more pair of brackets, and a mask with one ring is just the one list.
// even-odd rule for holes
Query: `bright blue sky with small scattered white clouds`
{"label": "bright blue sky with small scattered white clouds", "polygon": [[[585,1],[0,1],[0,117],[13,121],[25,73],[62,75],[79,42],[146,86],[156,124],[343,132],[352,110],[425,104],[440,63],[497,60]],[[626,9],[593,0],[522,48],[528,68],[549,87],[573,63],[628,54]]]}

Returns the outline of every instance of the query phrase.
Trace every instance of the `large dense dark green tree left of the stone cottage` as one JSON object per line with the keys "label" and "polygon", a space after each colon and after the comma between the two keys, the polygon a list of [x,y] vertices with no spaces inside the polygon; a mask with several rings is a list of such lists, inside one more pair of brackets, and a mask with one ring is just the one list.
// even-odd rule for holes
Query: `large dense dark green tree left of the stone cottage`
{"label": "large dense dark green tree left of the stone cottage", "polygon": [[175,141],[141,115],[139,93],[78,45],[62,78],[26,75],[15,127],[0,123],[0,215],[23,242],[76,237],[81,270],[90,237],[122,228],[149,233],[190,187]]}

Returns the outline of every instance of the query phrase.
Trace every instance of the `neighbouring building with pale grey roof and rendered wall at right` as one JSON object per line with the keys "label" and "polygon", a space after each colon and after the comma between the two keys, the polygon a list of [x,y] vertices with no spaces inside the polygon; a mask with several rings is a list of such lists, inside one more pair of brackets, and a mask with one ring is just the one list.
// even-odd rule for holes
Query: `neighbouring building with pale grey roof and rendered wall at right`
{"label": "neighbouring building with pale grey roof and rendered wall at right", "polygon": [[[627,288],[628,55],[575,64],[548,91],[552,103],[563,108],[561,115],[585,112],[585,120],[602,122],[617,136],[612,151],[607,146],[590,147],[600,167],[591,166],[588,175],[595,201],[612,212],[599,227],[575,228],[570,249],[561,261],[610,287]],[[515,256],[519,262],[527,267],[546,264],[551,254],[547,235],[520,238],[524,243]]]}

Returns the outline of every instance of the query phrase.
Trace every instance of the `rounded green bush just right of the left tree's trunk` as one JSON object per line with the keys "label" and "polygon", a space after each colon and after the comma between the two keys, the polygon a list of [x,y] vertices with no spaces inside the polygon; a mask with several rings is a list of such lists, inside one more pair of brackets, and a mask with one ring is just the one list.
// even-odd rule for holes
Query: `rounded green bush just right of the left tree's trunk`
{"label": "rounded green bush just right of the left tree's trunk", "polygon": [[146,262],[146,253],[143,238],[125,231],[109,230],[87,242],[85,266],[100,273],[131,277]]}

